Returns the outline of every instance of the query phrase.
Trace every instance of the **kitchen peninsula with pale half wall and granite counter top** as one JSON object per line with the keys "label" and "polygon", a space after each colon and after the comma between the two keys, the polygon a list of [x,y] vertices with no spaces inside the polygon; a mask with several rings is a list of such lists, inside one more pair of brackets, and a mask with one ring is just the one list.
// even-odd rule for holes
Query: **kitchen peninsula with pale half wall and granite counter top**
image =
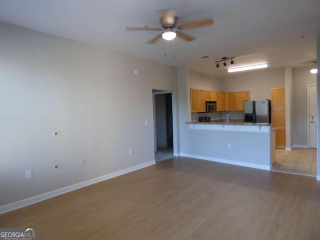
{"label": "kitchen peninsula with pale half wall and granite counter top", "polygon": [[[270,123],[241,121],[186,122],[188,153],[182,156],[270,170],[274,130]],[[273,137],[272,137],[273,136]],[[273,155],[273,157],[272,157]]]}

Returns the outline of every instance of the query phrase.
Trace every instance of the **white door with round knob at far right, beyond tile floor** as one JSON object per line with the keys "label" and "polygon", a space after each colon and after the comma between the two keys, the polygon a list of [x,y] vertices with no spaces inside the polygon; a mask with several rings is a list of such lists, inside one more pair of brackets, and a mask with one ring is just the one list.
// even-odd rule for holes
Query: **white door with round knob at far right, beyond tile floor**
{"label": "white door with round knob at far right, beyond tile floor", "polygon": [[317,147],[316,84],[307,85],[307,139],[310,148]]}

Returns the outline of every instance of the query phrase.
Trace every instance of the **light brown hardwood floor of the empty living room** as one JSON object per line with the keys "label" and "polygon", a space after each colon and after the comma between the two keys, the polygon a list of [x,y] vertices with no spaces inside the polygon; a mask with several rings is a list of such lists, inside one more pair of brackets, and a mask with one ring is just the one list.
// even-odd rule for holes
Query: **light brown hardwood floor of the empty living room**
{"label": "light brown hardwood floor of the empty living room", "polygon": [[1,214],[0,227],[37,239],[320,239],[320,182],[174,157]]}

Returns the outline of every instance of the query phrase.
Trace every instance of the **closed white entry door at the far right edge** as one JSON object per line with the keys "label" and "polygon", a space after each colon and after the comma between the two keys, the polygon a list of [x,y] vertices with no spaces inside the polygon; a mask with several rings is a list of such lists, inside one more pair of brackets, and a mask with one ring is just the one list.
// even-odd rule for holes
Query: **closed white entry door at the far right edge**
{"label": "closed white entry door at the far right edge", "polygon": [[309,85],[309,136],[310,147],[316,148],[316,131],[317,131],[317,117],[316,117],[316,85]]}

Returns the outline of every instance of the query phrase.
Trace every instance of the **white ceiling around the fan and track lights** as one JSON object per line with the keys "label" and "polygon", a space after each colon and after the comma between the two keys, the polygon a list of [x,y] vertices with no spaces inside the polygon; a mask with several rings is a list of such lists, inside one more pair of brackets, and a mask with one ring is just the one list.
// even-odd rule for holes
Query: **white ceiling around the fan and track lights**
{"label": "white ceiling around the fan and track lights", "polygon": [[[214,25],[183,30],[197,38],[176,39],[173,57],[172,41],[144,43],[157,31],[124,30],[160,27],[158,9],[174,9],[180,24],[211,17]],[[270,68],[311,66],[320,35],[320,0],[1,0],[0,21],[227,76],[236,73],[214,63],[223,56],[235,56],[236,66],[261,62]],[[210,57],[197,58],[203,55]]]}

